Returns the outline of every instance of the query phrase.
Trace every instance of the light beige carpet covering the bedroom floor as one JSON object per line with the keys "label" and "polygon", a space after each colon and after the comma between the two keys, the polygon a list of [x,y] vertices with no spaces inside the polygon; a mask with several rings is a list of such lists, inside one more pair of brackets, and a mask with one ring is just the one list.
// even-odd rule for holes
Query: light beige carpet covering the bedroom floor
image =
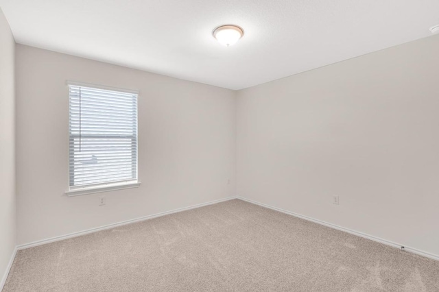
{"label": "light beige carpet covering the bedroom floor", "polygon": [[21,250],[3,291],[439,291],[439,262],[234,199]]}

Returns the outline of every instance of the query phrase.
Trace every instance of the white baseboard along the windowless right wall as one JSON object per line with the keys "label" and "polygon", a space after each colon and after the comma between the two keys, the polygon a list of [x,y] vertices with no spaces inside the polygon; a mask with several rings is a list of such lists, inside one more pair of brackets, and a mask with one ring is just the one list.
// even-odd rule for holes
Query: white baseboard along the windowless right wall
{"label": "white baseboard along the windowless right wall", "polygon": [[372,235],[370,235],[370,234],[366,234],[366,233],[359,232],[359,231],[356,231],[356,230],[352,230],[352,229],[349,229],[349,228],[344,228],[344,227],[342,227],[342,226],[337,226],[337,225],[335,225],[335,224],[328,223],[328,222],[326,222],[326,221],[321,221],[321,220],[318,220],[318,219],[314,219],[314,218],[311,218],[311,217],[307,217],[307,216],[304,216],[304,215],[300,215],[300,214],[295,213],[295,212],[291,212],[291,211],[283,210],[283,209],[281,209],[281,208],[277,208],[277,207],[274,207],[274,206],[270,206],[270,205],[267,205],[267,204],[263,204],[263,203],[261,203],[261,202],[254,201],[254,200],[252,200],[252,199],[246,199],[245,197],[239,197],[239,196],[237,196],[237,199],[241,199],[241,200],[243,200],[243,201],[246,201],[246,202],[249,202],[249,203],[252,203],[252,204],[255,204],[255,205],[259,205],[259,206],[262,206],[262,207],[265,207],[265,208],[269,208],[269,209],[272,209],[272,210],[276,210],[276,211],[278,211],[278,212],[283,212],[283,213],[285,213],[285,214],[292,215],[292,216],[294,216],[294,217],[298,217],[298,218],[300,218],[300,219],[305,219],[305,220],[307,220],[307,221],[311,221],[311,222],[314,222],[314,223],[318,223],[318,224],[320,224],[320,225],[327,226],[327,227],[329,227],[329,228],[333,228],[333,229],[336,229],[336,230],[340,230],[340,231],[348,232],[348,233],[350,233],[350,234],[353,234],[353,235],[356,235],[356,236],[363,237],[363,238],[365,238],[365,239],[370,239],[371,241],[377,241],[377,242],[379,242],[379,243],[383,243],[383,244],[385,244],[385,245],[390,245],[390,246],[392,246],[392,247],[401,248],[401,246],[403,246],[403,247],[404,247],[404,250],[405,250],[406,252],[411,252],[411,253],[413,253],[413,254],[418,254],[418,255],[420,255],[420,256],[425,256],[426,258],[431,258],[431,259],[434,259],[434,260],[439,260],[439,256],[438,256],[438,255],[436,255],[436,254],[431,254],[431,253],[429,253],[429,252],[424,252],[423,250],[418,250],[418,249],[416,249],[416,248],[414,248],[414,247],[407,247],[407,245],[402,245],[402,244],[399,244],[399,243],[394,243],[393,241],[388,241],[388,240],[386,240],[386,239],[381,239],[381,238],[379,238],[379,237],[377,237],[377,236],[372,236]]}

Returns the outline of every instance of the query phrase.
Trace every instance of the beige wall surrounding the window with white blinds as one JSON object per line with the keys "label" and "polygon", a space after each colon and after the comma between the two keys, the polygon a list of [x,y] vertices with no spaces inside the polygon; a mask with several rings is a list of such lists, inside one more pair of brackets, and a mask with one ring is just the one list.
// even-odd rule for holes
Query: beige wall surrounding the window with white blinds
{"label": "beige wall surrounding the window with white blinds", "polygon": [[[139,188],[64,195],[66,80],[140,90]],[[19,244],[235,195],[233,90],[24,45],[16,84]]]}

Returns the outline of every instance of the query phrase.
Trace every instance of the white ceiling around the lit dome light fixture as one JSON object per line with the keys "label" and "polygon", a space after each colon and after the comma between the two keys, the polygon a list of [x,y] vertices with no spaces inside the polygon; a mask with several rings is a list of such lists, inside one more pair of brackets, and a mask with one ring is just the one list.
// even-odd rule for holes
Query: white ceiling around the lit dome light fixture
{"label": "white ceiling around the lit dome light fixture", "polygon": [[[430,36],[439,0],[0,0],[16,42],[241,89]],[[211,35],[244,28],[235,46]]]}

